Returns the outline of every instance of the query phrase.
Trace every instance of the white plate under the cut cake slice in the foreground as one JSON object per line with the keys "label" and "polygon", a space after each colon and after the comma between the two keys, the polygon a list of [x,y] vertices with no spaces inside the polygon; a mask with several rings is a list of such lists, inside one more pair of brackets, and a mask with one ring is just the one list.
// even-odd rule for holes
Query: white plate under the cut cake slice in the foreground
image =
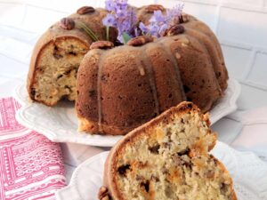
{"label": "white plate under the cut cake slice in the foreground", "polygon": [[[96,200],[101,187],[103,167],[109,152],[103,152],[80,164],[69,186],[56,192],[57,200]],[[212,154],[231,173],[239,200],[267,199],[267,164],[250,152],[239,152],[218,141]]]}

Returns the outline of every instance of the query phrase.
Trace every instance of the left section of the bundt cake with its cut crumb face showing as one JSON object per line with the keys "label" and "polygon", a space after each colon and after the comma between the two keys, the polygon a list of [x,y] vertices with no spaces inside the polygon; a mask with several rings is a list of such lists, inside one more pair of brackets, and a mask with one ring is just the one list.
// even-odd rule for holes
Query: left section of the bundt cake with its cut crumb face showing
{"label": "left section of the bundt cake with its cut crumb face showing", "polygon": [[[31,100],[53,106],[62,98],[76,99],[77,69],[93,41],[106,39],[106,28],[101,23],[106,14],[104,9],[84,6],[41,36],[28,72]],[[89,36],[90,31],[98,38]],[[115,41],[117,32],[114,28],[109,31],[109,40]]]}

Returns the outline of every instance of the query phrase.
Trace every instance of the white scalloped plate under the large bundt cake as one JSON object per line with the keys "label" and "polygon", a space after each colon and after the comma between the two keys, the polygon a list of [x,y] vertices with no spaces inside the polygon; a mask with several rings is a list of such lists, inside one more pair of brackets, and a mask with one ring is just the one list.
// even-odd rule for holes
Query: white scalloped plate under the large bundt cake
{"label": "white scalloped plate under the large bundt cake", "polygon": [[[240,85],[232,79],[229,80],[228,85],[225,96],[217,102],[210,112],[212,124],[237,109],[236,101],[240,94]],[[61,102],[53,108],[40,103],[29,103],[28,92],[24,84],[15,90],[14,95],[22,105],[16,114],[18,122],[29,129],[44,134],[49,140],[112,147],[122,137],[77,132],[78,122],[74,104],[71,102]]]}

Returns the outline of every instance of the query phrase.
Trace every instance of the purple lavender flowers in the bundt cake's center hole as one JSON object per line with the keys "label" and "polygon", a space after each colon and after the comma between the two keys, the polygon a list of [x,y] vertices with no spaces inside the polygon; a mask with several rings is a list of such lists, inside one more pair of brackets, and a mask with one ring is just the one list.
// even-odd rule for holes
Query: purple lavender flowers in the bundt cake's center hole
{"label": "purple lavender flowers in the bundt cake's center hole", "polygon": [[155,11],[150,19],[150,24],[145,25],[142,22],[137,24],[134,8],[128,5],[128,0],[106,0],[106,9],[109,11],[102,20],[106,26],[106,36],[109,40],[109,28],[117,28],[117,39],[126,44],[129,39],[135,36],[164,36],[166,30],[171,28],[177,21],[181,20],[184,4],[177,4],[173,9],[167,10],[166,14],[161,11]]}

